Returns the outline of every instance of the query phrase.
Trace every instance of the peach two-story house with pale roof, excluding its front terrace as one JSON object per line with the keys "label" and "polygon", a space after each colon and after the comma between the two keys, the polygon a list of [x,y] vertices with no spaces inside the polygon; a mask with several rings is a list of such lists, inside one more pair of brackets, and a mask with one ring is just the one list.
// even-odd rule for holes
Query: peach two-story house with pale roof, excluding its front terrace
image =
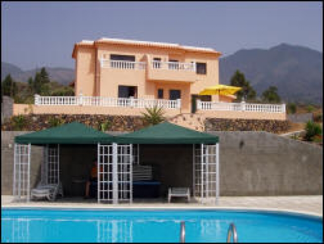
{"label": "peach two-story house with pale roof, excluding its front terrace", "polygon": [[[219,83],[220,52],[179,44],[101,38],[74,45],[75,94],[111,98],[181,99],[181,111],[194,110],[191,101],[218,100],[198,96]],[[223,101],[232,97],[222,97]]]}

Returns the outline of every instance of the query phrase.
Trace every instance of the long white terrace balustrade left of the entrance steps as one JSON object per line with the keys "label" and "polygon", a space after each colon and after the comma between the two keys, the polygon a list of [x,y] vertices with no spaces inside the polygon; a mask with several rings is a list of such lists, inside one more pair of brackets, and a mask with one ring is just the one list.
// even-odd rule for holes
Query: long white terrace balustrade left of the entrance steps
{"label": "long white terrace balustrade left of the entrance steps", "polygon": [[110,97],[50,97],[35,95],[35,105],[82,105],[82,106],[106,106],[106,107],[163,107],[166,109],[180,109],[181,99],[137,99],[137,98],[110,98]]}

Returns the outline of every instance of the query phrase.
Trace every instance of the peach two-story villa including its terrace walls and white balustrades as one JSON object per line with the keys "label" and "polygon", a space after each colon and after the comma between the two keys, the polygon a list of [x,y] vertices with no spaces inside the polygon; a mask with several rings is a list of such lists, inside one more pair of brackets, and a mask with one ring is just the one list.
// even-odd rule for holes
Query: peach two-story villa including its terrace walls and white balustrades
{"label": "peach two-story villa including its terrace walls and white balustrades", "polygon": [[[141,115],[157,105],[170,119],[187,113],[190,118],[196,113],[214,118],[286,119],[285,104],[233,103],[235,96],[199,96],[219,84],[220,56],[214,49],[179,44],[83,40],[72,52],[75,96],[35,95],[33,113]],[[14,114],[25,113],[28,106],[15,104]]]}

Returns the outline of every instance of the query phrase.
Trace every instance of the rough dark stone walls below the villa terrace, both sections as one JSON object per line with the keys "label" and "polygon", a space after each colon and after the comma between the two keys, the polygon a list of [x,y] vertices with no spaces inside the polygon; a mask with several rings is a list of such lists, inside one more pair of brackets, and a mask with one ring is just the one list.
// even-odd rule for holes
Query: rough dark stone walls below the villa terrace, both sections
{"label": "rough dark stone walls below the villa terrace, both sections", "polygon": [[[267,131],[272,133],[285,132],[290,126],[288,120],[261,120],[261,119],[226,119],[226,118],[199,118],[201,126],[195,126],[196,115],[187,114],[187,123],[192,124],[191,129],[198,130],[205,127],[205,131]],[[110,131],[129,132],[136,131],[145,127],[142,116],[127,115],[99,115],[99,114],[28,114],[24,115],[27,123],[23,128],[24,131],[39,131],[50,128],[50,119],[55,117],[62,119],[64,123],[79,121],[85,125],[98,129],[98,126],[110,121]],[[176,118],[176,117],[175,117]],[[192,119],[189,121],[189,119]],[[169,119],[172,121],[172,119]],[[172,122],[174,123],[174,122]],[[177,123],[176,123],[177,124]],[[179,123],[178,123],[179,124]],[[204,126],[202,126],[204,124]],[[181,126],[184,126],[180,123]],[[190,128],[190,127],[189,127]],[[10,121],[2,124],[2,131],[14,131]]]}

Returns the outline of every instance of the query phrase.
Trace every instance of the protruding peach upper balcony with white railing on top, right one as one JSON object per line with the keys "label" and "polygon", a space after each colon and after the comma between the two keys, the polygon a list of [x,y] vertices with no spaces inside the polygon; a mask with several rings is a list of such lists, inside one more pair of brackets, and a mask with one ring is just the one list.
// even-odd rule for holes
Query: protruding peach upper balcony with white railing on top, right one
{"label": "protruding peach upper balcony with white railing on top, right one", "polygon": [[151,61],[148,65],[148,80],[193,83],[196,78],[195,63]]}

